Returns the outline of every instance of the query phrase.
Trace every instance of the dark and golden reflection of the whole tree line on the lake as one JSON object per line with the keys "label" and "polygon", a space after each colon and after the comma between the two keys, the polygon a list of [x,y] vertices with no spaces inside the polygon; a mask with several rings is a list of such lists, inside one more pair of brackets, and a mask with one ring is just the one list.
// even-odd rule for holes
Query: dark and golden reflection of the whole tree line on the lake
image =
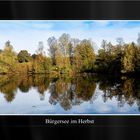
{"label": "dark and golden reflection of the whole tree line on the lake", "polygon": [[[65,111],[84,102],[93,104],[101,96],[104,103],[113,98],[118,107],[125,104],[130,107],[136,104],[140,111],[140,81],[134,77],[108,77],[104,75],[82,75],[76,77],[50,78],[49,75],[0,75],[0,92],[7,103],[16,99],[20,90],[29,93],[31,88],[37,89],[40,100],[49,93],[49,104],[59,104]],[[48,91],[48,92],[46,92]],[[98,92],[102,92],[98,96]],[[31,101],[32,102],[32,101]]]}

